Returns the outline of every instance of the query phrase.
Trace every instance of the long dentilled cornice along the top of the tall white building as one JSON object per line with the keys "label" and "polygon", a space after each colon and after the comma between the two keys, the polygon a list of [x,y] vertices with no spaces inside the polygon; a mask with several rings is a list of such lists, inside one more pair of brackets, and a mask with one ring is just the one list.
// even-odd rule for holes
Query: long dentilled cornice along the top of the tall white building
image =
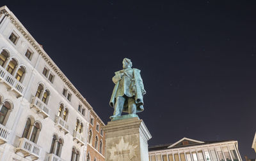
{"label": "long dentilled cornice along the top of the tall white building", "polygon": [[[27,41],[33,46],[36,52],[42,56],[42,58],[47,62],[47,64],[52,67],[52,70],[60,76],[61,80],[67,85],[67,87],[72,90],[72,92],[76,95],[76,97],[83,102],[84,106],[88,108],[92,113],[97,115],[93,110],[92,106],[86,101],[83,95],[77,90],[77,88],[68,80],[67,76],[60,70],[60,68],[54,63],[54,61],[49,57],[49,55],[44,51],[42,46],[33,38],[33,36],[27,31],[27,29],[22,25],[22,23],[18,20],[17,17],[9,10],[7,6],[2,6],[0,8],[0,13],[4,13],[7,17],[10,18],[12,24],[16,27],[16,29],[27,39]],[[97,115],[98,116],[98,115]],[[98,116],[99,118],[99,116]],[[102,120],[99,118],[100,122]],[[104,124],[104,122],[102,122]],[[105,124],[104,124],[105,125]]]}

